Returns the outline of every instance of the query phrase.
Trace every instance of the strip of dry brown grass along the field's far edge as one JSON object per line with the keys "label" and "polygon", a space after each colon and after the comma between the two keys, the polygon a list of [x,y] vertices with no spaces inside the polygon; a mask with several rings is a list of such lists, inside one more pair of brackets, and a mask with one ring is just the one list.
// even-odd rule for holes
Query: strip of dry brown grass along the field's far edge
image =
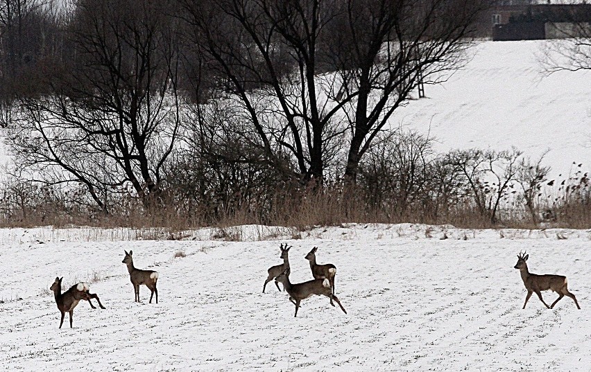
{"label": "strip of dry brown grass along the field's far edge", "polygon": [[[588,193],[588,189],[582,186],[581,189]],[[590,228],[591,199],[588,194],[580,193],[575,198],[560,194],[561,192],[565,193],[561,190],[554,191],[552,204],[539,204],[540,215],[541,211],[551,210],[554,215],[554,220],[550,221],[553,227]],[[261,204],[264,207],[255,208],[243,204],[240,209],[220,213],[215,220],[209,222],[194,215],[182,215],[175,204],[153,211],[146,211],[139,204],[129,204],[128,210],[114,210],[111,215],[92,215],[82,210],[63,213],[57,209],[52,213],[49,209],[43,209],[42,213],[17,213],[10,218],[1,218],[0,215],[0,227],[51,225],[62,228],[51,230],[51,236],[40,236],[40,242],[71,240],[72,236],[76,236],[76,240],[80,240],[80,236],[85,236],[85,239],[93,241],[201,238],[243,241],[247,237],[241,226],[247,224],[289,227],[292,229],[289,235],[294,239],[301,238],[301,231],[318,226],[339,226],[349,222],[452,224],[468,229],[540,227],[538,222],[534,223],[531,220],[531,215],[526,212],[524,206],[515,201],[504,202],[499,209],[499,220],[493,224],[487,216],[481,215],[469,199],[463,200],[462,204],[449,204],[447,209],[435,209],[434,206],[418,201],[400,211],[397,204],[391,200],[388,204],[371,206],[368,204],[368,198],[363,195],[359,189],[346,189],[342,186],[327,186],[319,190],[280,191],[276,195],[267,196],[267,202]],[[214,227],[214,233],[210,233],[208,237],[200,236],[197,229],[205,226]],[[78,232],[73,232],[73,227],[78,227]],[[286,236],[286,231],[280,228],[276,231],[259,229],[257,233],[255,240]],[[250,236],[248,238],[252,239]]]}

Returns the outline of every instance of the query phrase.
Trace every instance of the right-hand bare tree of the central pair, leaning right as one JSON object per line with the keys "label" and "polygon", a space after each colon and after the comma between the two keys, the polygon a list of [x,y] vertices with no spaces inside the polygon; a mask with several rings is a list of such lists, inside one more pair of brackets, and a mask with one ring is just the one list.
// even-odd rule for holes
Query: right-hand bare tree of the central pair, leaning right
{"label": "right-hand bare tree of the central pair, leaning right", "polygon": [[355,179],[359,160],[395,110],[422,82],[440,82],[463,63],[474,22],[488,1],[347,1],[333,45],[341,75],[334,99],[347,102],[350,125],[345,176]]}

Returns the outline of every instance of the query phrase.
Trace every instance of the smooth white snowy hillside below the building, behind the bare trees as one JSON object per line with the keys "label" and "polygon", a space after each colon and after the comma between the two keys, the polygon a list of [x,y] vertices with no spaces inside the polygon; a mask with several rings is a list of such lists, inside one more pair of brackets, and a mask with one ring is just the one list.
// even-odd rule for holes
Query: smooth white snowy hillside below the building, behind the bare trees
{"label": "smooth white snowy hillside below the building, behind the bare trees", "polygon": [[573,162],[591,170],[591,71],[545,76],[538,55],[546,41],[482,42],[474,57],[443,85],[425,87],[391,122],[438,140],[436,150],[511,146],[551,175]]}

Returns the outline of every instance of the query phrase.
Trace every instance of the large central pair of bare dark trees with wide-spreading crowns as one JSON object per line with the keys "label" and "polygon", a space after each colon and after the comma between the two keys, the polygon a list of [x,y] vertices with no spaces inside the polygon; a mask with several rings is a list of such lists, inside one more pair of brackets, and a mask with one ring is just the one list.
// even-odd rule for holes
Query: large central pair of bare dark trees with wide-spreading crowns
{"label": "large central pair of bare dark trees with wide-spreading crowns", "polygon": [[[420,80],[461,63],[479,0],[179,0],[191,38],[269,159],[322,179],[335,148],[359,161]],[[343,137],[343,134],[348,134]]]}

